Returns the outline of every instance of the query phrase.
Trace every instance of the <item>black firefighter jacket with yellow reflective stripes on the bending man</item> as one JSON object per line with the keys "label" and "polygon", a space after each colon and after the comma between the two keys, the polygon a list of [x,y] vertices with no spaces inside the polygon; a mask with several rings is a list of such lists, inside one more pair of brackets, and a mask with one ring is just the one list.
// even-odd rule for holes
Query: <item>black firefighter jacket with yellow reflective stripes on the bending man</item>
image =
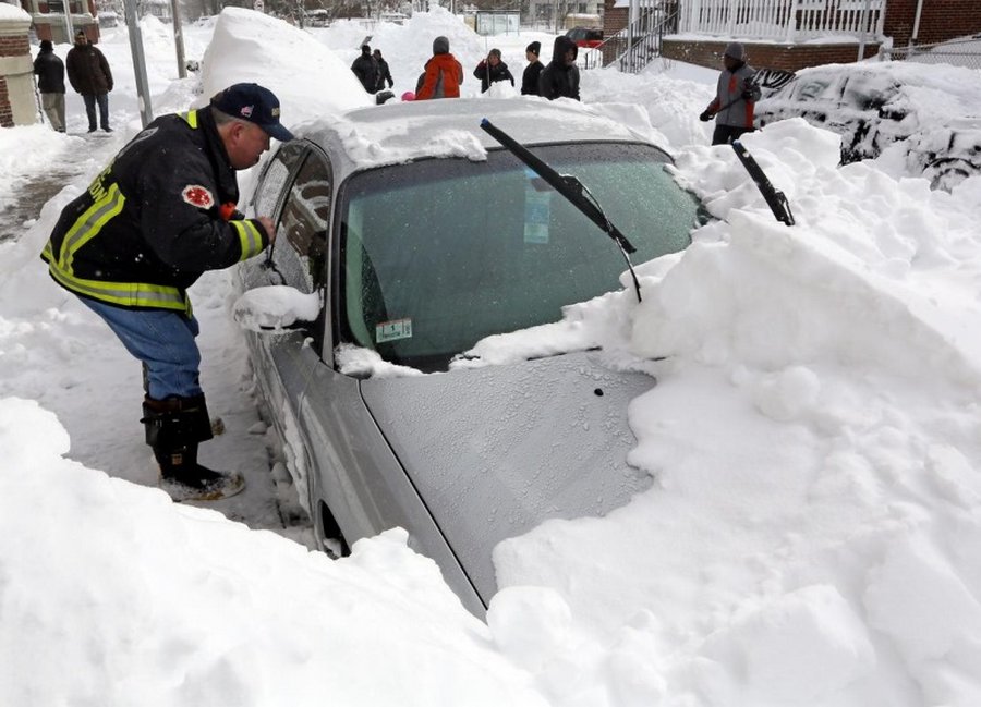
{"label": "black firefighter jacket with yellow reflective stripes on the bending man", "polygon": [[209,110],[162,115],[61,211],[41,257],[76,294],[126,308],[190,313],[185,290],[205,270],[262,253]]}

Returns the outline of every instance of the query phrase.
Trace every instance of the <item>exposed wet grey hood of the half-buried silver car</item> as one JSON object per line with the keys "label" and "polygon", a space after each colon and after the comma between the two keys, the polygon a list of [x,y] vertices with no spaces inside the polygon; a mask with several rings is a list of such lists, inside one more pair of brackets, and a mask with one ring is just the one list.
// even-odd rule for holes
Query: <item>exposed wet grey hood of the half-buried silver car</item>
{"label": "exposed wet grey hood of the half-buried silver car", "polygon": [[627,410],[654,385],[610,370],[597,352],[361,383],[485,601],[497,588],[497,543],[546,519],[604,515],[650,486],[627,464]]}

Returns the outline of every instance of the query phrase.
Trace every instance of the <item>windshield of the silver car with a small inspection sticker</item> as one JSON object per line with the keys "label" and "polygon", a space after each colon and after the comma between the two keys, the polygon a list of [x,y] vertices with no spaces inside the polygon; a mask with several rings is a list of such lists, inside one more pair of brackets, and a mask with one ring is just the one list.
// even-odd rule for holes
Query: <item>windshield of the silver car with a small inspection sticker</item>
{"label": "windshield of the silver car with a small inspection sticker", "polygon": [[[638,144],[536,147],[578,176],[637,247],[634,263],[685,248],[700,218]],[[564,305],[616,290],[616,244],[506,150],[432,159],[344,186],[340,293],[346,338],[386,361],[444,370],[480,339],[557,321]]]}

